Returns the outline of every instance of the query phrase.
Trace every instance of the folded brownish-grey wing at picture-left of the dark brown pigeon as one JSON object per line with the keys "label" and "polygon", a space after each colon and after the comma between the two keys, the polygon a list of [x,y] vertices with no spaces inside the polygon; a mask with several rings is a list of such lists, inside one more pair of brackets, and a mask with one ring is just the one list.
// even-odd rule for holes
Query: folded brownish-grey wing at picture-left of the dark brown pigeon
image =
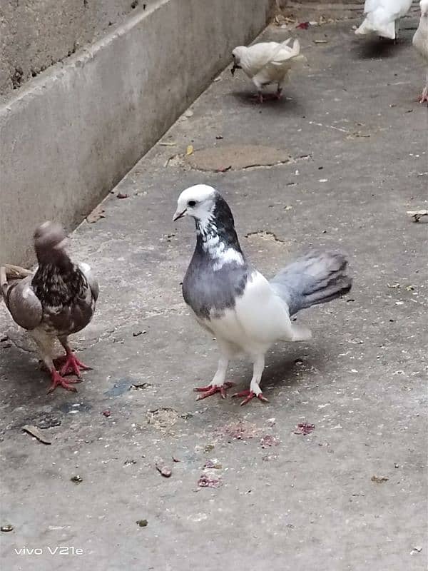
{"label": "folded brownish-grey wing at picture-left of the dark brown pigeon", "polygon": [[31,288],[32,278],[33,276],[28,276],[23,280],[11,283],[7,288],[4,287],[3,283],[1,284],[4,302],[9,313],[14,318],[15,323],[27,330],[35,329],[40,325],[43,317],[40,300]]}

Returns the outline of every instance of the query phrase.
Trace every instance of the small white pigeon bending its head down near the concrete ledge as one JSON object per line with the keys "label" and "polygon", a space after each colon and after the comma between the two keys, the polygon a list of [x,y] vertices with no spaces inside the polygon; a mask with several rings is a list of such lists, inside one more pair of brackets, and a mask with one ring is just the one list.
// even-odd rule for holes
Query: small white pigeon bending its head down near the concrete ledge
{"label": "small white pigeon bending its head down near the concrete ledge", "polygon": [[249,47],[238,46],[232,52],[232,75],[236,69],[243,69],[257,87],[260,103],[263,103],[263,86],[277,84],[276,97],[279,99],[290,69],[306,61],[305,56],[300,56],[299,40],[293,42],[292,48],[288,45],[290,41],[289,38],[282,44],[266,41]]}

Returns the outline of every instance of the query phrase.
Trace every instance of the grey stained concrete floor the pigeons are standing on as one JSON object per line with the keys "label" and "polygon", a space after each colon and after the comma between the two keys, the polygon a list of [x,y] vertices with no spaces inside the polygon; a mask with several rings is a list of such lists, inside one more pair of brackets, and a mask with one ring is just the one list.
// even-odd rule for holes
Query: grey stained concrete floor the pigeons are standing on
{"label": "grey stained concrete floor the pigeons are standing on", "polygon": [[[0,344],[0,523],[14,526],[0,533],[4,569],[427,569],[427,226],[406,215],[427,208],[428,115],[415,102],[424,70],[411,46],[415,18],[397,46],[358,39],[352,23],[297,32],[309,66],[280,103],[255,105],[250,81],[226,70],[163,137],[170,144],[118,185],[128,198],[109,196],[105,218],[78,228],[71,251],[93,266],[101,295],[75,336],[94,368],[76,395],[46,395],[48,378],[1,308],[10,341]],[[193,167],[183,159],[190,144]],[[195,168],[203,148],[225,147],[213,157],[230,166],[228,145],[292,161]],[[241,154],[254,164],[253,152]],[[217,350],[180,293],[193,225],[171,217],[180,191],[198,182],[223,192],[241,245],[267,276],[308,246],[350,255],[351,295],[301,316],[312,342],[267,355],[266,405],[195,402]],[[250,371],[234,363],[230,380],[245,388]],[[315,430],[295,434],[304,421]],[[25,424],[52,425],[52,444]],[[204,468],[209,460],[217,468]],[[218,487],[199,487],[203,474]],[[42,554],[17,555],[24,546]],[[51,555],[56,546],[68,555]]]}

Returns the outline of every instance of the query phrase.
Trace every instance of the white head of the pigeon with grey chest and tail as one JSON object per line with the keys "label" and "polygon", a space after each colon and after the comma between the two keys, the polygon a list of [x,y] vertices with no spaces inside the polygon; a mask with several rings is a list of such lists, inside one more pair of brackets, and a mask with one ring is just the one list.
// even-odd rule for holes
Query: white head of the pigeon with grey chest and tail
{"label": "white head of the pigeon with grey chest and tail", "polygon": [[177,210],[173,216],[175,222],[183,216],[191,216],[202,226],[213,218],[218,192],[212,186],[196,184],[186,188],[177,201]]}

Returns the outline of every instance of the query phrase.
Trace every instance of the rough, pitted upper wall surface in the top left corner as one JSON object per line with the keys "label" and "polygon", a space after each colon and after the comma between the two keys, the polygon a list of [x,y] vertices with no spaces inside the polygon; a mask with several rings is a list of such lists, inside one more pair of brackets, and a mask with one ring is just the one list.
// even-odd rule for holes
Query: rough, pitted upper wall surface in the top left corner
{"label": "rough, pitted upper wall surface in the top left corner", "polygon": [[0,98],[154,0],[0,0]]}

